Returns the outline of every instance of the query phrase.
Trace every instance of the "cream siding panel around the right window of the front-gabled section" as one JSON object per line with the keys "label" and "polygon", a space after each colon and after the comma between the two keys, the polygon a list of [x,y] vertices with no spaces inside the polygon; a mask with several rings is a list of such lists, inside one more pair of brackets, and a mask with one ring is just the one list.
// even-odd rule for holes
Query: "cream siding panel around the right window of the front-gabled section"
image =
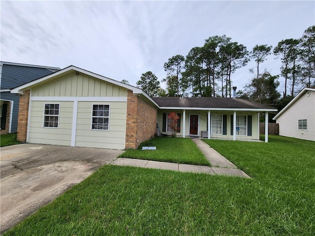
{"label": "cream siding panel around the right window of the front-gabled section", "polygon": [[[110,106],[109,130],[92,130],[92,106]],[[126,102],[78,102],[75,146],[124,149],[126,139]]]}

